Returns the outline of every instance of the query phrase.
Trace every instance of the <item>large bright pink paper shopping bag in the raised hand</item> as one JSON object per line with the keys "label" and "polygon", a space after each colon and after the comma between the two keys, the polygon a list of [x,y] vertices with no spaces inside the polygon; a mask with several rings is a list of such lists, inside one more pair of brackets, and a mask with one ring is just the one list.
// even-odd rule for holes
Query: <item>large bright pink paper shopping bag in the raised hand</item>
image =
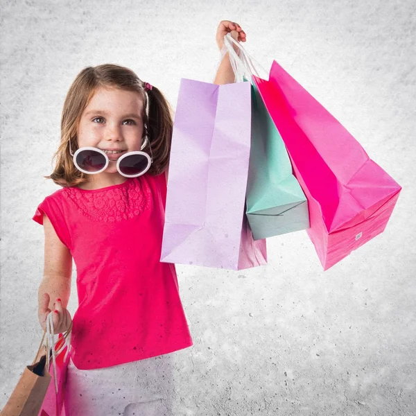
{"label": "large bright pink paper shopping bag in the raised hand", "polygon": [[306,230],[327,270],[384,231],[401,187],[277,62],[256,76],[308,199]]}

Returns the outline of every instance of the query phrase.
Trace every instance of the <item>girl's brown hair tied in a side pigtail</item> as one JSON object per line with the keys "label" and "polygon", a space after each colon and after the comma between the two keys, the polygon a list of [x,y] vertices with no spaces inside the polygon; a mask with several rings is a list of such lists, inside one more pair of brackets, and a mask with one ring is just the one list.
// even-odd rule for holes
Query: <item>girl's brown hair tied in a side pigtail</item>
{"label": "girl's brown hair tied in a side pigtail", "polygon": [[[87,182],[87,175],[78,171],[73,164],[69,146],[72,153],[75,153],[78,148],[76,132],[80,117],[99,87],[125,89],[141,95],[144,103],[142,117],[147,127],[147,132],[146,128],[144,129],[147,139],[142,144],[141,150],[150,156],[153,154],[153,163],[148,170],[150,175],[164,172],[171,153],[173,130],[171,106],[164,94],[156,87],[146,91],[144,82],[131,69],[117,64],[103,64],[84,68],[69,87],[62,110],[60,146],[53,157],[56,160],[55,168],[46,178],[62,187],[73,187]],[[148,114],[146,114],[147,106]]]}

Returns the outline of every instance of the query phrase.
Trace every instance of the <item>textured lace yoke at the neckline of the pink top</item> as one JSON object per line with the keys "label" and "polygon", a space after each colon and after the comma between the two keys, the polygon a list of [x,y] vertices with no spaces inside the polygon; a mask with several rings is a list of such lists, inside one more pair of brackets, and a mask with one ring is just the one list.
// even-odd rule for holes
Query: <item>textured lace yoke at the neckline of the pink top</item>
{"label": "textured lace yoke at the neckline of the pink top", "polygon": [[62,193],[94,221],[114,223],[138,216],[150,206],[152,191],[146,181],[129,178],[102,189],[64,188]]}

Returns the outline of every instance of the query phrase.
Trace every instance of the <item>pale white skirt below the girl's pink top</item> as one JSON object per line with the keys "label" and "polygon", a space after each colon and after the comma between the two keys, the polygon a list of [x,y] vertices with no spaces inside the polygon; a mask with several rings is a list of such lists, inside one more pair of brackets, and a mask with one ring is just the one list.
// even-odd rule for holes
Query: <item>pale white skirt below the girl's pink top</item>
{"label": "pale white skirt below the girl's pink top", "polygon": [[68,365],[66,416],[171,416],[173,357],[164,354],[96,370]]}

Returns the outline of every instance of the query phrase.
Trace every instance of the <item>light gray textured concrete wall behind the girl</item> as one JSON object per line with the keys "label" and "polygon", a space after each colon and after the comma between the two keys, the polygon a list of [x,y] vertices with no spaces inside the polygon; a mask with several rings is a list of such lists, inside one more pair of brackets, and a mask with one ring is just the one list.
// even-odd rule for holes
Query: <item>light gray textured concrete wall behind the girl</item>
{"label": "light gray textured concrete wall behind the girl", "polygon": [[[387,229],[327,272],[305,232],[268,241],[269,265],[177,266],[195,345],[175,354],[175,415],[415,415],[413,0],[1,1],[0,408],[42,335],[42,178],[64,96],[116,62],[175,105],[180,78],[211,82],[221,19],[276,59],[404,190]],[[76,308],[76,288],[69,309]]]}

